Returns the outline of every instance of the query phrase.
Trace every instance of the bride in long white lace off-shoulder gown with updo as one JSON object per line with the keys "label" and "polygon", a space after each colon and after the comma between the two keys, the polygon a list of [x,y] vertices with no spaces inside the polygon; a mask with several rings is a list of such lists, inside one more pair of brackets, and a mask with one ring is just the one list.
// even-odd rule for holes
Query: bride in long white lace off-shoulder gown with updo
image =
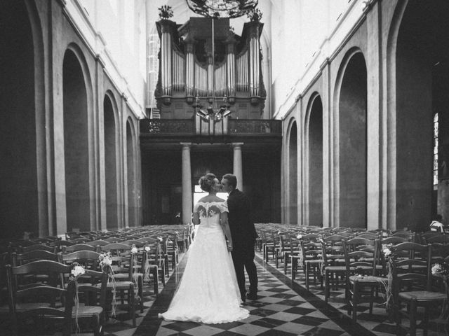
{"label": "bride in long white lace off-shoulder gown with updo", "polygon": [[[226,323],[249,316],[240,307],[241,296],[232,263],[232,237],[227,223],[227,203],[217,197],[220,182],[214,174],[199,180],[209,193],[194,207],[193,222],[199,225],[189,248],[184,275],[168,311],[167,321]],[[227,238],[227,242],[226,242]]]}

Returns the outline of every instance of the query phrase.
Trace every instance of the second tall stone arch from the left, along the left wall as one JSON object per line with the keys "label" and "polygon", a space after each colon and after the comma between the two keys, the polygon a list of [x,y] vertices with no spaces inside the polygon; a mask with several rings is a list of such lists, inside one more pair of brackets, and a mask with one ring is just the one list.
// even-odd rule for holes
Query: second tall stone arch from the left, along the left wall
{"label": "second tall stone arch from the left, along the left wall", "polygon": [[78,45],[71,43],[62,63],[65,201],[67,230],[89,231],[93,200],[93,104],[91,78]]}

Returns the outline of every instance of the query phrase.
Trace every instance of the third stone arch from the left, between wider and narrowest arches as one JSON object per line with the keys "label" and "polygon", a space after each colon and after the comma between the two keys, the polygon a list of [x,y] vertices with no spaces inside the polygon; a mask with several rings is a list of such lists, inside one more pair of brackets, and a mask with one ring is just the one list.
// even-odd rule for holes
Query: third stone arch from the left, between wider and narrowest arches
{"label": "third stone arch from the left, between wider and narrowest arches", "polygon": [[103,99],[105,137],[106,227],[119,228],[119,111],[114,94],[107,90]]}

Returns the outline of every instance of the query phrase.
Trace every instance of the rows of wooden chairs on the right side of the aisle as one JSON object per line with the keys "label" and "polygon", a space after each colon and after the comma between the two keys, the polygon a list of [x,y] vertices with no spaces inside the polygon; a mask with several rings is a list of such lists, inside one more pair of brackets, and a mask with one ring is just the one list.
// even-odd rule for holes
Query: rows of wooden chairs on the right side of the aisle
{"label": "rows of wooden chairs on the right side of the aisle", "polygon": [[[426,330],[429,309],[441,307],[443,301],[448,299],[445,293],[438,292],[441,287],[435,286],[436,281],[430,273],[432,263],[449,255],[447,240],[441,238],[444,236],[441,233],[416,235],[406,231],[330,232],[314,229],[311,232],[310,228],[307,231],[298,229],[258,226],[261,237],[259,248],[264,260],[268,262],[272,257],[276,267],[279,267],[281,261],[286,274],[290,264],[292,281],[295,280],[298,267],[302,268],[307,289],[312,280],[314,283],[319,282],[321,288],[324,282],[326,302],[331,288],[343,286],[348,314],[354,322],[358,304],[369,302],[372,314],[373,303],[385,303],[386,297],[391,296],[388,307],[396,318],[398,328],[402,327],[400,316],[406,312],[411,314],[408,317],[416,318],[416,307],[421,305],[426,309],[422,323]],[[393,258],[383,258],[382,244],[394,244]],[[417,260],[418,256],[421,260]],[[390,295],[385,288],[390,288]],[[410,294],[410,288],[421,290],[413,290]],[[378,293],[382,292],[383,295],[379,296]],[[417,297],[417,300],[413,297]],[[403,304],[413,307],[406,310]],[[410,335],[415,335],[415,330],[416,325],[410,323]]]}

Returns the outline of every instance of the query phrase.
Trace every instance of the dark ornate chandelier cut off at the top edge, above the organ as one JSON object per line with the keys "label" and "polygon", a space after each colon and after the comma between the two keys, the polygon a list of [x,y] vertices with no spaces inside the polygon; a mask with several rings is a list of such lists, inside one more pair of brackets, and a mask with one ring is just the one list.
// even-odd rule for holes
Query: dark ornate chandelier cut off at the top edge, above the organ
{"label": "dark ornate chandelier cut off at the top edge, above the organ", "polygon": [[186,0],[187,6],[207,18],[239,18],[255,9],[259,0]]}

